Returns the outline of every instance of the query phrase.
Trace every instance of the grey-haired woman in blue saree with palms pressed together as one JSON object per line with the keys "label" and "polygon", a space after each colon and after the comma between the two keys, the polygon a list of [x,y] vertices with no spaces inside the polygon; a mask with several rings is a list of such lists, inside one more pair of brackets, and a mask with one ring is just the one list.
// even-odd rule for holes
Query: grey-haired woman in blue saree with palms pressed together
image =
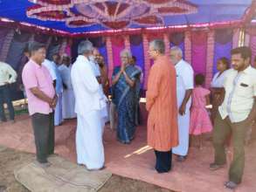
{"label": "grey-haired woman in blue saree with palms pressed together", "polygon": [[113,102],[117,111],[117,140],[128,144],[135,137],[135,110],[138,98],[136,85],[140,81],[140,70],[131,65],[131,52],[121,51],[121,66],[114,68],[112,77]]}

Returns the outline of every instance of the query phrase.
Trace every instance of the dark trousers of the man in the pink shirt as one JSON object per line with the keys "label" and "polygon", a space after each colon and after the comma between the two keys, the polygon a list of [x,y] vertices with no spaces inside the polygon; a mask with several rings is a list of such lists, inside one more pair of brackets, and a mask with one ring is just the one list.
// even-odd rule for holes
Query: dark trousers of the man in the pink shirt
{"label": "dark trousers of the man in the pink shirt", "polygon": [[54,154],[54,113],[35,113],[31,116],[37,149],[37,160],[47,162],[47,156]]}

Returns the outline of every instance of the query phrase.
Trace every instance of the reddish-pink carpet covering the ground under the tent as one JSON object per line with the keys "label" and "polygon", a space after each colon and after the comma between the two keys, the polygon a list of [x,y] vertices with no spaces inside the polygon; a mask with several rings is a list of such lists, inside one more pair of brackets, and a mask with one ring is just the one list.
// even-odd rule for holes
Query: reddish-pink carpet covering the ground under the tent
{"label": "reddish-pink carpet covering the ground under the tent", "polygon": [[[143,118],[145,122],[146,117]],[[0,127],[1,145],[25,152],[35,152],[31,120],[27,115],[17,117],[17,123],[15,124],[7,122],[0,125]],[[55,130],[55,152],[75,162],[74,138],[76,121],[66,120],[62,126],[56,127]],[[135,140],[130,145],[122,145],[115,140],[115,133],[106,127],[104,146],[107,169],[114,175],[156,184],[162,188],[174,191],[230,191],[224,189],[223,186],[223,183],[227,180],[228,167],[215,172],[209,170],[209,164],[213,160],[211,141],[204,141],[204,148],[202,150],[197,149],[197,147],[190,147],[190,153],[186,161],[178,163],[174,160],[173,170],[168,174],[159,175],[154,170],[155,156],[152,149],[147,147],[146,133],[147,129],[144,123],[141,127],[137,127]],[[236,192],[256,191],[255,147],[255,141],[246,147],[245,175],[242,184]],[[228,156],[229,164],[231,155]]]}

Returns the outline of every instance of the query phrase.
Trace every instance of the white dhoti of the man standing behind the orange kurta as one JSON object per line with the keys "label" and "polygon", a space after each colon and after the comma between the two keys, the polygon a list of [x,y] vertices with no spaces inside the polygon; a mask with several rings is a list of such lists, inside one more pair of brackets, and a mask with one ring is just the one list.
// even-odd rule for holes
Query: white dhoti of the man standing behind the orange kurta
{"label": "white dhoti of the man standing behind the orange kurta", "polygon": [[178,139],[179,145],[172,148],[172,153],[177,155],[185,156],[189,150],[189,139],[190,139],[190,110],[184,115],[178,114]]}

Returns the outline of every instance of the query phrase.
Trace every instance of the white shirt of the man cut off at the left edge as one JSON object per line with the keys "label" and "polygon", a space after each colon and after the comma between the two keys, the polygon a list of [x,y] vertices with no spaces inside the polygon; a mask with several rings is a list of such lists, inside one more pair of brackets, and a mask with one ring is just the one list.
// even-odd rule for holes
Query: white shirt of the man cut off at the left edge
{"label": "white shirt of the man cut off at the left edge", "polygon": [[14,83],[17,79],[17,73],[6,63],[0,62],[0,86],[6,83]]}

